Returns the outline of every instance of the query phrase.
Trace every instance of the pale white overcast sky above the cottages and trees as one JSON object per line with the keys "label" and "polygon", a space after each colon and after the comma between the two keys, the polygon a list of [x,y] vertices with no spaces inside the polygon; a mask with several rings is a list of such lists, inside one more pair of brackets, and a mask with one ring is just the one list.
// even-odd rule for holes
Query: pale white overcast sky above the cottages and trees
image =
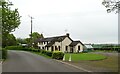
{"label": "pale white overcast sky above the cottages and trees", "polygon": [[[10,0],[21,17],[14,35],[26,38],[33,32],[45,37],[70,33],[73,40],[83,43],[118,43],[118,15],[107,13],[103,0]],[[12,7],[13,8],[13,7]]]}

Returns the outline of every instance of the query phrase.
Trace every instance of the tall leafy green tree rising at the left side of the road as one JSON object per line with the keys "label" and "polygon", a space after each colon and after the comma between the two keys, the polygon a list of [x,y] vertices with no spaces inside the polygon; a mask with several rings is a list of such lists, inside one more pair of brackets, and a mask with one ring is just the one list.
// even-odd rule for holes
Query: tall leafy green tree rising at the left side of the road
{"label": "tall leafy green tree rising at the left side of the road", "polygon": [[20,25],[20,15],[18,12],[18,9],[11,10],[10,6],[12,6],[12,3],[8,2],[0,2],[2,4],[2,8],[0,9],[0,12],[2,12],[2,44],[3,47],[7,45],[8,41],[8,35],[15,31],[16,28]]}

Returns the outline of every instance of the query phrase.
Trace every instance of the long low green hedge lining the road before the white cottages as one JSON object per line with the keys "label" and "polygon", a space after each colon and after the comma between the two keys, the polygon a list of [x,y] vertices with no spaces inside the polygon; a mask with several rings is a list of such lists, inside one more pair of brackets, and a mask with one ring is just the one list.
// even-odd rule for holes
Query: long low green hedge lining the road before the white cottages
{"label": "long low green hedge lining the road before the white cottages", "polygon": [[30,51],[33,53],[37,53],[40,55],[44,55],[47,57],[51,57],[53,59],[58,59],[58,60],[62,60],[64,53],[60,52],[60,51],[56,51],[56,52],[50,52],[50,51],[45,51],[42,49],[35,49],[35,48],[28,48],[28,47],[23,47],[23,46],[7,46],[6,47],[7,50],[23,50],[23,51]]}

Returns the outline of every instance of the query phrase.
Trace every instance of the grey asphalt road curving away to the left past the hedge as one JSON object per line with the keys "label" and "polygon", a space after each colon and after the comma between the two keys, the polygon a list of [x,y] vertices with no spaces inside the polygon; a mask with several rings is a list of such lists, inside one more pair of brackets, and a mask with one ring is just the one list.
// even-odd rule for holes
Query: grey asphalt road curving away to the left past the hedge
{"label": "grey asphalt road curving away to the left past the hedge", "polygon": [[8,51],[3,72],[84,72],[70,65],[25,51]]}

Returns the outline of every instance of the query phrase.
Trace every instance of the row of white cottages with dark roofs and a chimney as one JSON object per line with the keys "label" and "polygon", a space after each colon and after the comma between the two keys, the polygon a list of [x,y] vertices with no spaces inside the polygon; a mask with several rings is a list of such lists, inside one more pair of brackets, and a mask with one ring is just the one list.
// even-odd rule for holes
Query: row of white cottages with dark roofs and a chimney
{"label": "row of white cottages with dark roofs and a chimney", "polygon": [[39,38],[36,40],[39,49],[47,51],[62,51],[62,52],[82,52],[84,44],[81,41],[73,41],[69,33],[63,36]]}

